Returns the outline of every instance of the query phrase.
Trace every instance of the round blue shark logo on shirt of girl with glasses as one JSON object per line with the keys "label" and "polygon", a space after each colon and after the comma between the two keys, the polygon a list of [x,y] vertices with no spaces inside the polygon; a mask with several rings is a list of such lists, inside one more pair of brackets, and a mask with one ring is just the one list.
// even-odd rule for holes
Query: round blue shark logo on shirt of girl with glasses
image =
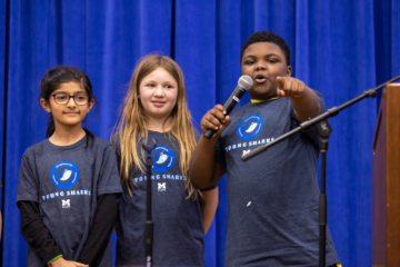
{"label": "round blue shark logo on shirt of girl with glasses", "polygon": [[79,179],[79,170],[73,162],[61,161],[52,167],[50,178],[58,188],[68,189],[77,184]]}

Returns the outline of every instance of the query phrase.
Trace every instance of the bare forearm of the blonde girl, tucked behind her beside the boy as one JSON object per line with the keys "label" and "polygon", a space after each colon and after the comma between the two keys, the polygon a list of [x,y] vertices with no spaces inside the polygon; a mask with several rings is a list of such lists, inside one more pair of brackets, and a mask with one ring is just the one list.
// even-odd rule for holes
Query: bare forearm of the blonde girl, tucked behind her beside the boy
{"label": "bare forearm of the blonde girl, tucked behind her beside the boy", "polygon": [[202,197],[200,197],[200,208],[202,215],[202,222],[204,227],[204,234],[207,234],[208,229],[211,226],[212,219],[216,215],[216,210],[218,207],[218,187],[201,191]]}

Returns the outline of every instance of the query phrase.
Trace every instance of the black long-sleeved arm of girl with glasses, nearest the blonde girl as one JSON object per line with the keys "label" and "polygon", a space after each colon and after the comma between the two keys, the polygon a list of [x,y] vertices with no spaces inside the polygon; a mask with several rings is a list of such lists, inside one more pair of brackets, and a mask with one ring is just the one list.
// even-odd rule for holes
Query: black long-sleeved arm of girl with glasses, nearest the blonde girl
{"label": "black long-sleeved arm of girl with glasses, nearest the blonde girl", "polygon": [[99,196],[89,237],[78,261],[89,264],[90,267],[100,265],[116,222],[118,196],[119,194]]}

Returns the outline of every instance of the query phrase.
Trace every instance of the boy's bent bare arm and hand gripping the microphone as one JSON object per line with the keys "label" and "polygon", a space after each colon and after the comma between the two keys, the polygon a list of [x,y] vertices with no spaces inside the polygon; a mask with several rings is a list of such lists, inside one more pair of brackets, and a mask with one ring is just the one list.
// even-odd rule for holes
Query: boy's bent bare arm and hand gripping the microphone
{"label": "boy's bent bare arm and hand gripping the microphone", "polygon": [[[231,118],[224,117],[226,110],[217,105],[209,110],[200,121],[204,134],[208,129],[218,130],[211,139],[201,135],[190,159],[189,177],[193,187],[203,189],[216,184],[226,172],[226,166],[216,162],[216,148],[219,136],[229,126]],[[221,123],[221,122],[222,123]]]}

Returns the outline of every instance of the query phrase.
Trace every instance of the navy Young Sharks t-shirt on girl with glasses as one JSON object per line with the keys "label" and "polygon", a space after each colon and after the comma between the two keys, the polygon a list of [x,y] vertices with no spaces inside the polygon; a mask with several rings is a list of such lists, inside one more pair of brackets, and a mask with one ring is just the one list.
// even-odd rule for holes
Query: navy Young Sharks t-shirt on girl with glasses
{"label": "navy Young Sharks t-shirt on girl with glasses", "polygon": [[[64,147],[46,139],[22,156],[17,202],[39,202],[42,221],[67,260],[77,260],[82,253],[98,197],[120,192],[113,148],[99,137],[88,147],[87,137]],[[110,237],[101,267],[112,266],[111,253]],[[29,245],[27,263],[43,266]]]}

